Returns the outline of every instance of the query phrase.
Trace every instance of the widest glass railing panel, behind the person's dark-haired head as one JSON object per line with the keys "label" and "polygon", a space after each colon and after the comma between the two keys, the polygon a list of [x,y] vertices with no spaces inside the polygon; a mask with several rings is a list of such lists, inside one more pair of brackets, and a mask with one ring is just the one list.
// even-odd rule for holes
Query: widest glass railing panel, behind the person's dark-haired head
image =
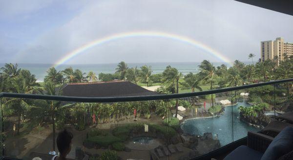
{"label": "widest glass railing panel, behind the person's dark-haired head", "polygon": [[3,105],[5,155],[9,157],[31,160],[58,155],[57,144],[54,149],[53,141],[63,129],[73,134],[71,151],[67,155],[69,159],[80,159],[84,154],[92,158],[110,151],[123,160],[149,160],[151,156],[177,159],[189,156],[192,151],[183,146],[179,120],[172,118],[176,112],[176,100],[119,103],[15,101]]}

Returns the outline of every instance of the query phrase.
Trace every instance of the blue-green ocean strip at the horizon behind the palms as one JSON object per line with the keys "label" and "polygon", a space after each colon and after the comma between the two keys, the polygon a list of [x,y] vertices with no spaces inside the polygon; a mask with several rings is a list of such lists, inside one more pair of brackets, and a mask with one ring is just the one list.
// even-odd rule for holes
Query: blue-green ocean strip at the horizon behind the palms
{"label": "blue-green ocean strip at the horizon behind the palms", "polygon": [[[219,66],[223,62],[211,62],[214,66]],[[245,64],[250,64],[250,62],[244,62]],[[118,63],[108,63],[108,64],[62,64],[56,69],[58,71],[64,70],[67,67],[72,67],[73,69],[80,69],[85,73],[93,71],[96,73],[97,77],[99,73],[114,73],[115,68]],[[183,75],[188,74],[189,72],[198,73],[198,65],[200,62],[149,62],[149,63],[127,63],[128,67],[136,67],[139,69],[143,65],[150,65],[152,69],[152,74],[162,73],[167,65],[177,68],[179,72]],[[224,62],[227,67],[230,67],[229,63]],[[52,66],[52,64],[34,64],[34,63],[19,63],[20,68],[29,70],[32,74],[36,75],[38,81],[43,81],[46,71]],[[0,66],[4,66],[4,63],[0,63]]]}

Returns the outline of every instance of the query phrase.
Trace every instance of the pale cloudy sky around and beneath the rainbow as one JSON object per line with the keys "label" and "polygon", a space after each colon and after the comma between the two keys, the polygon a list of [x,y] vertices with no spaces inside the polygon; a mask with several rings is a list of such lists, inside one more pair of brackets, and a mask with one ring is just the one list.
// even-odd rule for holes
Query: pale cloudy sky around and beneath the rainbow
{"label": "pale cloudy sky around and beneath the rainbow", "polygon": [[[260,57],[260,41],[293,42],[293,16],[233,0],[0,0],[0,63],[55,63],[109,35],[156,31],[200,41],[230,60]],[[220,61],[182,41],[132,37],[67,63]]]}

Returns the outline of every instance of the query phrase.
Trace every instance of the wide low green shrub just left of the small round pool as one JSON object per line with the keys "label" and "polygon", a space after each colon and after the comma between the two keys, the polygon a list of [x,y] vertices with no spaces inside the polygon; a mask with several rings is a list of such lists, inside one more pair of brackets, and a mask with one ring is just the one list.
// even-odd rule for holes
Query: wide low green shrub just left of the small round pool
{"label": "wide low green shrub just left of the small round pool", "polygon": [[96,144],[99,144],[103,147],[108,147],[109,144],[113,144],[115,142],[122,141],[120,138],[115,136],[95,136],[95,137],[88,137],[85,142],[94,142]]}

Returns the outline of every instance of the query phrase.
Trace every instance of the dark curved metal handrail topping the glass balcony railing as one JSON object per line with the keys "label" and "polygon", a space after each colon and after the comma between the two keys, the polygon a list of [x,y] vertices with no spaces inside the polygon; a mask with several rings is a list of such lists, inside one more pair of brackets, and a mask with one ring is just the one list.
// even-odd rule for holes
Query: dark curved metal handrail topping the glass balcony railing
{"label": "dark curved metal handrail topping the glass balcony railing", "polygon": [[167,99],[180,99],[180,98],[229,92],[229,91],[259,87],[259,86],[270,85],[270,84],[284,83],[289,81],[293,81],[293,79],[274,80],[274,81],[268,81],[268,82],[241,85],[236,87],[213,89],[213,90],[201,91],[201,92],[190,92],[190,93],[179,93],[179,94],[168,94],[168,95],[128,96],[128,97],[69,97],[69,96],[51,96],[51,95],[40,95],[40,94],[21,94],[21,93],[2,92],[0,93],[0,98],[6,97],[6,98],[37,99],[37,100],[59,100],[59,101],[70,101],[70,102],[125,102],[125,101],[145,101],[145,100],[167,100]]}

